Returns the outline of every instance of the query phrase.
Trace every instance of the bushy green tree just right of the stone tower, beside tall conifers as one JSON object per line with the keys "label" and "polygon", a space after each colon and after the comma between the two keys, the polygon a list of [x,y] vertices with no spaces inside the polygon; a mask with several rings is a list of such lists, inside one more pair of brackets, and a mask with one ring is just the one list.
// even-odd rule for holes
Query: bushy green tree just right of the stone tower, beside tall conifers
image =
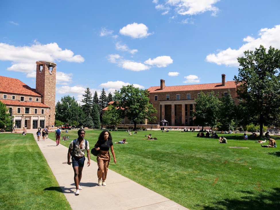
{"label": "bushy green tree just right of the stone tower, beside tall conifers", "polygon": [[83,110],[78,102],[75,100],[74,96],[69,95],[61,97],[61,101],[58,101],[55,105],[55,118],[56,120],[69,123],[70,125],[73,121],[78,118],[82,119],[84,117]]}

